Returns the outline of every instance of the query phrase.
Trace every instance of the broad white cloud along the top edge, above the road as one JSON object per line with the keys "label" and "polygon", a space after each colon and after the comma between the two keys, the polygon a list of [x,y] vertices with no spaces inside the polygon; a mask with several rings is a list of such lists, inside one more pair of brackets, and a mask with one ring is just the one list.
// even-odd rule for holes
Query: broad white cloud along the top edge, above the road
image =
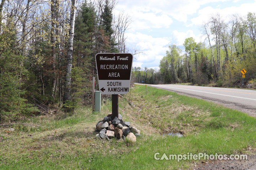
{"label": "broad white cloud along the top edge, above the road", "polygon": [[231,0],[119,0],[115,10],[132,17],[134,30],[168,28],[172,18],[187,22],[187,16],[197,12],[201,5]]}

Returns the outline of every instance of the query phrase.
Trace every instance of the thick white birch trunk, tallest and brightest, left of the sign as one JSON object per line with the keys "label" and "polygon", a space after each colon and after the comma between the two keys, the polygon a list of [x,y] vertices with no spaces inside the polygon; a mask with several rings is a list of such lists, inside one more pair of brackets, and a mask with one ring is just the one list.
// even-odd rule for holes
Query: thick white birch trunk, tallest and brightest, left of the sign
{"label": "thick white birch trunk, tallest and brightest, left of the sign", "polygon": [[72,70],[72,57],[73,57],[73,39],[75,28],[75,14],[76,14],[76,2],[72,0],[71,14],[70,14],[70,30],[68,39],[68,56],[66,61],[66,78],[65,78],[65,91],[63,101],[70,100],[70,85],[71,85],[71,70]]}

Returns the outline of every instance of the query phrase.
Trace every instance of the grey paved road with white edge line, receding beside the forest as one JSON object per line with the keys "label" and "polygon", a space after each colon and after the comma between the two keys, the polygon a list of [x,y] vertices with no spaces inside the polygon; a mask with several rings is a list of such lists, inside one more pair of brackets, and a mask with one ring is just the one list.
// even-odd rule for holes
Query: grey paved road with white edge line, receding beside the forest
{"label": "grey paved road with white edge line, receding beside the forest", "polygon": [[229,89],[188,85],[148,85],[159,89],[175,91],[187,96],[202,98],[223,104],[256,117],[256,90]]}

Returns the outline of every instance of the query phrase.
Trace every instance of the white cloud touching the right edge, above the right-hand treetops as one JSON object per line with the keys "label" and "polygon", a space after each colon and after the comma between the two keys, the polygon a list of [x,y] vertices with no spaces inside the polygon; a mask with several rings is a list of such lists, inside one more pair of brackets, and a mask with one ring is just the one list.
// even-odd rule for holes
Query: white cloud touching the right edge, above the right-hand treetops
{"label": "white cloud touching the right edge, above the right-hand treetops", "polygon": [[248,12],[255,12],[255,6],[256,6],[256,2],[251,4],[250,3],[242,4],[239,7],[231,6],[223,9],[207,6],[198,11],[198,17],[192,18],[191,19],[192,24],[190,24],[189,26],[201,25],[204,22],[207,22],[211,15],[214,15],[216,13],[219,13],[220,16],[226,22],[228,22],[230,15],[233,15],[235,13],[241,16],[245,16],[247,15]]}

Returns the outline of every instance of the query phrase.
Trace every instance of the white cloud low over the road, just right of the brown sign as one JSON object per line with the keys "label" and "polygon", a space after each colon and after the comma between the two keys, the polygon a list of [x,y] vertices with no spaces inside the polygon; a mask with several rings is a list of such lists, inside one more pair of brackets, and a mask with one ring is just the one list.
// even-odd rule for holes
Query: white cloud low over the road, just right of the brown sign
{"label": "white cloud low over the road, just right of the brown sign", "polygon": [[170,40],[165,38],[153,38],[141,33],[127,33],[127,45],[139,52],[134,55],[133,66],[155,67],[159,64],[165,52],[169,49]]}

